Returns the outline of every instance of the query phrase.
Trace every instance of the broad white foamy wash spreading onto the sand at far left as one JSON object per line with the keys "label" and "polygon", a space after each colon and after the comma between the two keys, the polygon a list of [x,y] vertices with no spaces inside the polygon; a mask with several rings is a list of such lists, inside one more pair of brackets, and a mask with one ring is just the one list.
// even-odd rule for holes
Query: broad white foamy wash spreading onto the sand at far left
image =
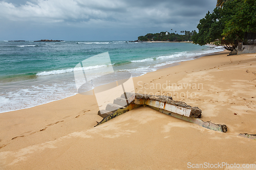
{"label": "broad white foamy wash spreading onto the sand at far left", "polygon": [[[73,89],[73,90],[72,90]],[[0,96],[0,113],[30,108],[75,95],[75,84],[36,85],[21,88]]]}

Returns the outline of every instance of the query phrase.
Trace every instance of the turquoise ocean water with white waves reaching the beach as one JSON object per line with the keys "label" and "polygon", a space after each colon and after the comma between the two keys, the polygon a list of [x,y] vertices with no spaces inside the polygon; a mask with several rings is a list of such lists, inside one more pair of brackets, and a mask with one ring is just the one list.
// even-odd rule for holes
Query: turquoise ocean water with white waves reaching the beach
{"label": "turquoise ocean water with white waves reaching the beach", "polygon": [[[74,67],[97,54],[109,52],[119,75],[129,71],[137,77],[220,51],[192,43],[0,41],[0,113],[75,95]],[[102,67],[95,61],[86,69],[94,71]],[[109,83],[102,81],[102,84]]]}

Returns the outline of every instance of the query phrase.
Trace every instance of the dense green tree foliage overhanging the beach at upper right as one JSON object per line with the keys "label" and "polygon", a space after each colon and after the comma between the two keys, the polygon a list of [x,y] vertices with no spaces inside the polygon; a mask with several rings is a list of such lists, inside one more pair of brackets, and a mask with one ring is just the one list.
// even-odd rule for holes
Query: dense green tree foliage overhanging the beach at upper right
{"label": "dense green tree foliage overhanging the beach at upper right", "polygon": [[[221,2],[221,1],[218,1]],[[195,44],[208,43],[232,51],[245,32],[256,32],[255,0],[228,0],[200,20],[199,32],[192,37]]]}

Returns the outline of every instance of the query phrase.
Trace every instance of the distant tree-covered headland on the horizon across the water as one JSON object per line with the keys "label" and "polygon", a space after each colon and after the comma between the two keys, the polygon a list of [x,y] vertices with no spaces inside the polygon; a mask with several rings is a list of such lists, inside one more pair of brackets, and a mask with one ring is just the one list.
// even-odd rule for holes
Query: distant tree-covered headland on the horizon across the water
{"label": "distant tree-covered headland on the horizon across the water", "polygon": [[[171,29],[172,30],[172,29]],[[175,33],[160,32],[160,33],[148,33],[144,36],[139,36],[139,41],[191,41],[191,37],[196,34],[196,30],[194,31],[181,31],[183,35]]]}

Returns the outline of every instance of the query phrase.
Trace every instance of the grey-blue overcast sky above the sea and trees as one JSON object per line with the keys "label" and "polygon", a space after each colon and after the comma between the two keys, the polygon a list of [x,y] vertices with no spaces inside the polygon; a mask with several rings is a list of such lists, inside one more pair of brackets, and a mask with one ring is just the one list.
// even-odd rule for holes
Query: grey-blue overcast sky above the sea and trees
{"label": "grey-blue overcast sky above the sea and trees", "polygon": [[136,40],[197,30],[217,0],[0,0],[0,40]]}

